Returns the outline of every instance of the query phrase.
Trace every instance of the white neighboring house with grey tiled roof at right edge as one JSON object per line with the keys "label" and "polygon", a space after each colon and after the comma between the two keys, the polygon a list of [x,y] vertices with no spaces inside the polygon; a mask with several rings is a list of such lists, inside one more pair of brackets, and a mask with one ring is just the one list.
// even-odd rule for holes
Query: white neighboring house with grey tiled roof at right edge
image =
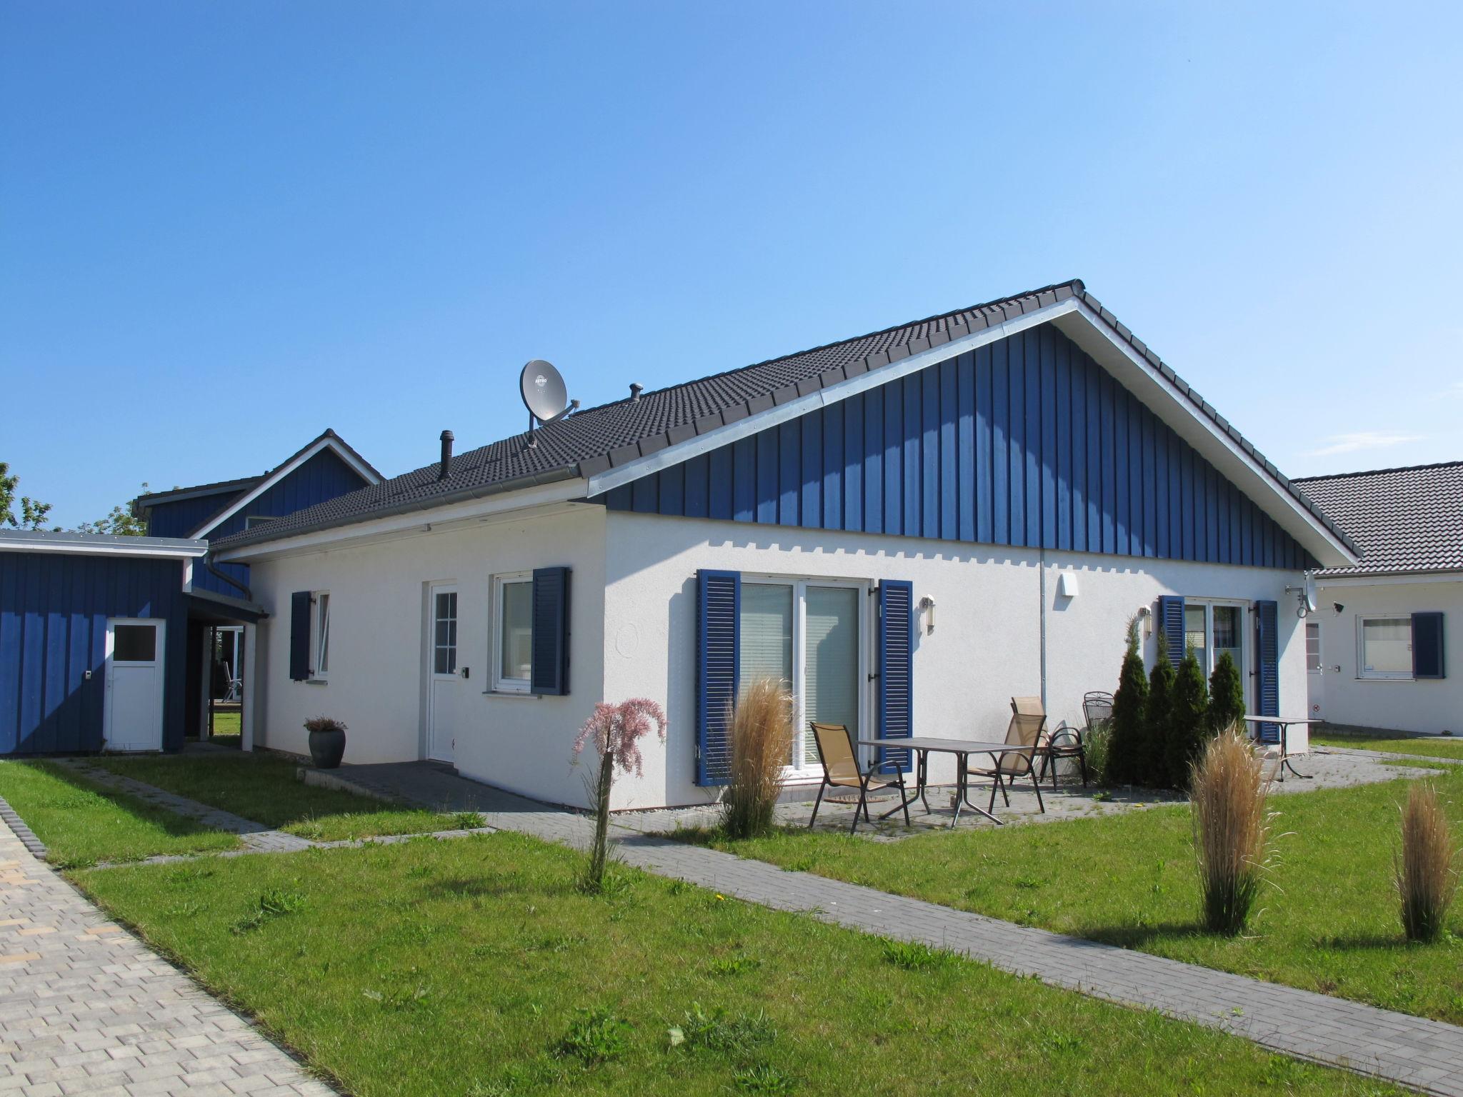
{"label": "white neighboring house with grey tiled roof at right edge", "polygon": [[1306,620],[1312,715],[1333,724],[1463,733],[1463,461],[1296,481],[1362,550],[1315,575]]}

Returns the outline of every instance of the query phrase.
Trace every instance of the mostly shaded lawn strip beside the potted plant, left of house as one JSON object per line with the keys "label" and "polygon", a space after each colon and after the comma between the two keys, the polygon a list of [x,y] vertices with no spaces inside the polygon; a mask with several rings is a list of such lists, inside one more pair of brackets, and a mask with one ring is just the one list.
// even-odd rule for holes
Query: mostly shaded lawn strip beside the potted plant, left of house
{"label": "mostly shaded lawn strip beside the potted plant, left of house", "polygon": [[[478,825],[474,818],[423,812],[297,780],[297,762],[271,755],[104,756],[97,765],[244,819],[315,841],[424,834]],[[19,810],[19,809],[16,809]],[[23,815],[23,813],[22,813]]]}

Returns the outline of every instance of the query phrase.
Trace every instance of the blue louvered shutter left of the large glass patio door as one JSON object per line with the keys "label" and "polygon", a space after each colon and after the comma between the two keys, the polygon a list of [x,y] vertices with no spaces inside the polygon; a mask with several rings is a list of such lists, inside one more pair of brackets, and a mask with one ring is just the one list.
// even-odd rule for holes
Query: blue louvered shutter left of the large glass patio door
{"label": "blue louvered shutter left of the large glass patio door", "polygon": [[696,784],[726,784],[742,657],[742,573],[696,572]]}

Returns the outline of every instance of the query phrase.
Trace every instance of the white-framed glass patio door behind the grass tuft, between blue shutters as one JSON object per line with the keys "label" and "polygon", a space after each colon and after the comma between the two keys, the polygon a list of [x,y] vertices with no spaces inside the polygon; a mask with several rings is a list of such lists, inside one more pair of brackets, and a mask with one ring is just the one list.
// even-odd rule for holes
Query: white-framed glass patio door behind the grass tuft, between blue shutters
{"label": "white-framed glass patio door behind the grass tuft, between blue shutters", "polygon": [[740,664],[745,686],[781,679],[802,714],[789,765],[816,769],[808,721],[844,724],[863,736],[863,587],[835,581],[743,579]]}

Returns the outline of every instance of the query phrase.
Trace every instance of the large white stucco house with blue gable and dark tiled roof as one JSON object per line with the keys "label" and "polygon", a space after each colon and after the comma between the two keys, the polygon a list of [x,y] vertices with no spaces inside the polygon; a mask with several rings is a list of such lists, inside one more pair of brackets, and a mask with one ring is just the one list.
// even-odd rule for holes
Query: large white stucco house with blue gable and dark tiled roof
{"label": "large white stucco house with blue gable and dark tiled roof", "polygon": [[[707,363],[710,364],[710,363]],[[897,742],[1112,689],[1124,623],[1306,704],[1289,588],[1347,537],[1067,282],[576,411],[218,541],[249,563],[246,746],[439,759],[585,802],[597,701],[669,714],[614,806],[705,803],[737,683]],[[816,780],[799,742],[791,780]]]}

